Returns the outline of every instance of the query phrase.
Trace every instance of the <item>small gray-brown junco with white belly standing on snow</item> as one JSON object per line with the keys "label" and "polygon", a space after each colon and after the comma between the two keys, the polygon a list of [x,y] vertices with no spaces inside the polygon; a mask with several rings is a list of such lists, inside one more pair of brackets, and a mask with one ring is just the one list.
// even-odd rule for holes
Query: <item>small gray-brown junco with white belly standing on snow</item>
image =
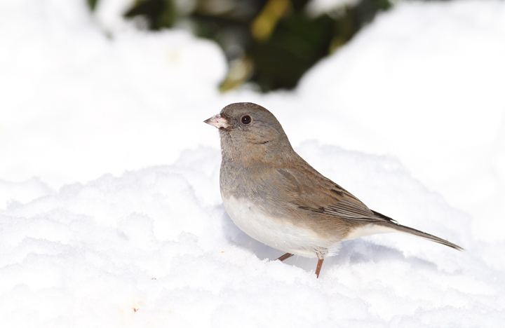
{"label": "small gray-brown junco with white belly standing on snow", "polygon": [[220,131],[224,208],[242,231],[286,252],[281,261],[317,257],[319,277],[323,260],[342,240],[390,232],[462,250],[370,210],[298,156],[275,116],[257,104],[229,104],[205,123]]}

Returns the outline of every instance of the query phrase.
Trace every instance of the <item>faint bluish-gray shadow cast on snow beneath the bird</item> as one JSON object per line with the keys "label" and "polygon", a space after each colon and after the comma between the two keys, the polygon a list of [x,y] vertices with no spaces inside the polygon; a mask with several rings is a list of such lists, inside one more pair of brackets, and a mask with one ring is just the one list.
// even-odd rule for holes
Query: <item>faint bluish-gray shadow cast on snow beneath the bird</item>
{"label": "faint bluish-gray shadow cast on snow beneath the bird", "polygon": [[[249,235],[241,231],[240,228],[231,221],[226,212],[224,212],[222,228],[224,237],[232,245],[236,245],[244,250],[253,252],[258,259],[268,259],[270,261],[274,261],[285,254],[280,250],[264,245],[262,242],[251,238]],[[338,254],[335,257],[327,257],[324,261],[323,268],[370,262],[379,263],[382,261],[405,261],[414,268],[423,268],[424,270],[429,271],[437,270],[436,264],[431,261],[426,261],[426,259],[415,256],[405,257],[403,252],[400,252],[400,250],[384,245],[377,245],[363,238],[342,242]],[[284,263],[297,266],[310,272],[316,270],[317,259],[295,256],[290,259],[286,259]],[[323,274],[324,271],[325,270],[323,269],[321,274]]]}

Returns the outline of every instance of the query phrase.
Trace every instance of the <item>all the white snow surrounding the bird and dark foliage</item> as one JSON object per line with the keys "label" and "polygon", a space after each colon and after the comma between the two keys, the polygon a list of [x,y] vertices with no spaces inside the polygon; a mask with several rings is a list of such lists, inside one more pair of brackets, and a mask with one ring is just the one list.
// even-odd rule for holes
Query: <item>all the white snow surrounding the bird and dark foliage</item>
{"label": "all the white snow surrounding the bird and dark foliage", "polygon": [[[221,95],[226,62],[130,0],[0,1],[1,327],[501,327],[505,2],[400,3],[292,92]],[[203,120],[256,102],[400,234],[315,259],[242,233]]]}

